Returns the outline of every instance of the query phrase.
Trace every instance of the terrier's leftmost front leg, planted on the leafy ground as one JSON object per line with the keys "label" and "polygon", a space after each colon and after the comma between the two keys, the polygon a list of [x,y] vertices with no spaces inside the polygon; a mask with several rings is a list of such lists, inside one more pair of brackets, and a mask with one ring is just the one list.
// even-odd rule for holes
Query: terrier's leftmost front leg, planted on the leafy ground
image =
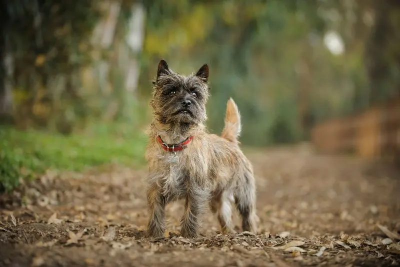
{"label": "terrier's leftmost front leg, planted on the leafy ground", "polygon": [[150,213],[147,224],[147,235],[151,237],[164,236],[166,198],[160,193],[154,183],[147,189],[147,206]]}

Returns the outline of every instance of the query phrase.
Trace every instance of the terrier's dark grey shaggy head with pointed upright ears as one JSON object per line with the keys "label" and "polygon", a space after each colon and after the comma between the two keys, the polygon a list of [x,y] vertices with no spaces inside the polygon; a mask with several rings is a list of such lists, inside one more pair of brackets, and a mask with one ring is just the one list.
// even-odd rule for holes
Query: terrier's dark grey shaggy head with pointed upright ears
{"label": "terrier's dark grey shaggy head with pointed upright ears", "polygon": [[161,60],[153,82],[150,106],[155,119],[162,124],[201,124],[206,120],[208,98],[208,66],[195,74],[183,76],[168,68]]}

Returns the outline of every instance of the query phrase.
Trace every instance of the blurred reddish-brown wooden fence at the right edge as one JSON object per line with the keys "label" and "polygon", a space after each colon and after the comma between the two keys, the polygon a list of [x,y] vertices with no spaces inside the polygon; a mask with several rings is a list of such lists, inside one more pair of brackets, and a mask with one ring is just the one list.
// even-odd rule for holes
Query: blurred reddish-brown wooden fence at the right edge
{"label": "blurred reddish-brown wooden fence at the right edge", "polygon": [[322,153],[354,153],[399,162],[400,99],[317,124],[311,130],[311,142]]}

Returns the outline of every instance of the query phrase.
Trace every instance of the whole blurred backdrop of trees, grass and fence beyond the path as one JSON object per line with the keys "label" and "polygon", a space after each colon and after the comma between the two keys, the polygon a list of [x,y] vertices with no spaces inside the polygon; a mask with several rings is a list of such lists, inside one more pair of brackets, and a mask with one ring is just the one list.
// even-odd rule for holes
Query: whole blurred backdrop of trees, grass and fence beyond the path
{"label": "whole blurred backdrop of trees, grass and fence beyond the path", "polygon": [[243,146],[398,156],[400,1],[1,5],[3,189],[50,167],[142,165],[160,59],[183,74],[209,65],[209,131],[233,97]]}

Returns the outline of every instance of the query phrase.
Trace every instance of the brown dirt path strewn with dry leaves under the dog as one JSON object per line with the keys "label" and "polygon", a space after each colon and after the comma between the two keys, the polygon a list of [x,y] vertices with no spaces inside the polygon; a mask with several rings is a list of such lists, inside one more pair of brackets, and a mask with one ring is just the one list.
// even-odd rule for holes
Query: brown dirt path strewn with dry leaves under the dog
{"label": "brown dirt path strewn with dry leaves under the dog", "polygon": [[[257,180],[259,235],[221,235],[207,213],[202,236],[181,238],[179,202],[167,207],[169,236],[146,239],[145,171],[49,172],[22,194],[1,197],[0,266],[400,264],[398,173],[306,148],[247,154]],[[393,243],[382,244],[387,235]]]}

